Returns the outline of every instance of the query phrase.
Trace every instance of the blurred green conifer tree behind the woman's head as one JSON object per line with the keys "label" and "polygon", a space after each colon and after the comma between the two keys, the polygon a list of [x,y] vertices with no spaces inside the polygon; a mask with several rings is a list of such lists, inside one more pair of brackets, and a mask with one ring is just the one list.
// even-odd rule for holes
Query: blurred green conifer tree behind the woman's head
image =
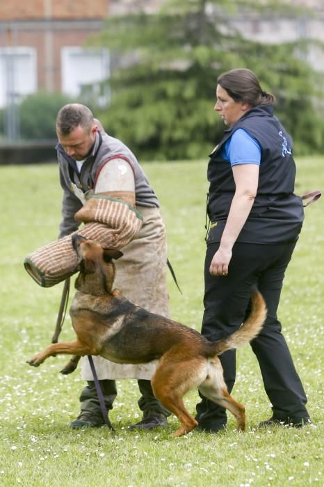
{"label": "blurred green conifer tree behind the woman's head", "polygon": [[277,97],[276,113],[298,152],[323,151],[323,83],[300,56],[307,43],[252,42],[231,22],[247,8],[273,13],[274,6],[282,8],[274,1],[172,0],[156,15],[108,19],[94,41],[118,60],[111,104],[97,112],[108,132],[142,159],[205,157],[224,129],[213,111],[216,79],[248,67]]}

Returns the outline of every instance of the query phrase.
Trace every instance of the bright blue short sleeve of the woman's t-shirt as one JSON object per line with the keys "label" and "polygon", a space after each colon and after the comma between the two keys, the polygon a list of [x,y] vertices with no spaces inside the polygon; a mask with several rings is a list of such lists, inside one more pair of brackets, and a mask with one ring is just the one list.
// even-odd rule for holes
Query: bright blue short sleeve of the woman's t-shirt
{"label": "bright blue short sleeve of the woman's t-shirt", "polygon": [[237,129],[222,147],[222,158],[231,166],[261,162],[261,145],[244,129]]}

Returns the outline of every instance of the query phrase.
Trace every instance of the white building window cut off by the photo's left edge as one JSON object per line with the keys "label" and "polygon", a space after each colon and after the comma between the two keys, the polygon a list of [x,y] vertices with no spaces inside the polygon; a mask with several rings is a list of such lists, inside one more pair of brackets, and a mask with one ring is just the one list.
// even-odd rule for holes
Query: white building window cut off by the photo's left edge
{"label": "white building window cut off by the photo's left edge", "polygon": [[0,107],[19,102],[37,90],[36,51],[29,47],[0,48]]}

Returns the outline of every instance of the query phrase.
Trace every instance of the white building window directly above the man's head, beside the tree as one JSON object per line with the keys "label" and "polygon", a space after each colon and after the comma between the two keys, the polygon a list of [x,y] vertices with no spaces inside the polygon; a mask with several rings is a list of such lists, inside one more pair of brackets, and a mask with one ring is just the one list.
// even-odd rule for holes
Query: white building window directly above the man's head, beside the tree
{"label": "white building window directly above the man's head, beside the tree", "polygon": [[79,97],[86,90],[96,97],[97,104],[108,102],[108,92],[101,86],[110,76],[108,49],[63,47],[61,66],[63,93]]}

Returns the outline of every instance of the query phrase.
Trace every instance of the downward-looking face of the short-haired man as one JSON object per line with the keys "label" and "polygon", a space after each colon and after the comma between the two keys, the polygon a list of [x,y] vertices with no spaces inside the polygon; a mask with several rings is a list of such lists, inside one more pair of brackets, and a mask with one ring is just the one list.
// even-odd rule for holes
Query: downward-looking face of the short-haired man
{"label": "downward-looking face of the short-haired man", "polygon": [[78,125],[67,136],[63,136],[58,132],[58,142],[62,145],[68,156],[76,161],[82,161],[86,159],[92,145],[95,143],[97,129],[97,125],[93,125],[90,132],[87,133]]}

